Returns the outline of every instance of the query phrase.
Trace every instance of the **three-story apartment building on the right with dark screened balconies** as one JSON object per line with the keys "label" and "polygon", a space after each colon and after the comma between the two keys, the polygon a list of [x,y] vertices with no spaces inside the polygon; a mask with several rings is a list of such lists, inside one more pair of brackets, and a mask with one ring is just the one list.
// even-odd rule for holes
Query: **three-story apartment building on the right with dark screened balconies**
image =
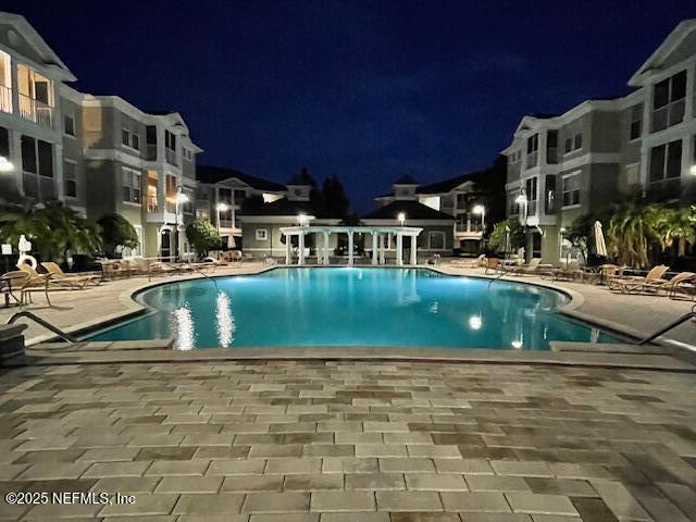
{"label": "three-story apartment building on the right with dark screened balconies", "polygon": [[631,94],[522,119],[502,153],[507,214],[530,232],[527,257],[573,256],[563,229],[632,192],[696,201],[695,82],[696,20],[688,20],[629,79]]}

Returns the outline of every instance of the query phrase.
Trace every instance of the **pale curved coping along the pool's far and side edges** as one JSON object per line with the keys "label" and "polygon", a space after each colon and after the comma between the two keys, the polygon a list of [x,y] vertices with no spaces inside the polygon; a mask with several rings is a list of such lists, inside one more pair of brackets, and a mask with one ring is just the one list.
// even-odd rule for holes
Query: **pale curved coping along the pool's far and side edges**
{"label": "pale curved coping along the pool's far and side edges", "polygon": [[[253,275],[259,275],[259,274],[263,274],[265,272],[271,272],[273,270],[278,270],[278,269],[293,269],[293,268],[297,268],[297,265],[274,265],[274,266],[262,266],[259,268],[252,272],[244,272],[244,273],[232,273],[232,274],[211,274],[211,275],[202,275],[202,274],[186,274],[186,277],[181,277],[181,278],[176,278],[174,281],[157,281],[157,282],[152,282],[152,281],[148,281],[147,283],[144,282],[144,284],[136,286],[135,288],[129,288],[127,290],[123,290],[119,294],[119,301],[121,302],[121,304],[124,307],[124,310],[121,312],[116,312],[116,313],[112,313],[112,314],[108,314],[104,315],[102,318],[99,318],[99,320],[91,320],[91,321],[86,321],[84,323],[78,323],[75,324],[69,328],[64,328],[64,331],[71,335],[74,336],[83,336],[86,335],[88,333],[94,333],[94,332],[98,332],[100,330],[104,330],[108,328],[111,325],[114,325],[115,323],[120,323],[123,321],[127,321],[130,319],[135,319],[141,314],[148,313],[149,310],[151,310],[151,307],[148,307],[147,304],[144,304],[142,302],[140,302],[137,299],[137,296],[139,294],[142,294],[146,290],[149,290],[151,288],[156,288],[158,286],[164,286],[164,285],[170,285],[170,284],[174,284],[174,283],[182,283],[182,282],[187,282],[187,281],[197,281],[197,279],[203,279],[203,278],[223,278],[223,277],[239,277],[239,276],[253,276]],[[313,264],[307,264],[303,265],[302,268],[308,268],[308,269],[345,269],[347,268],[346,265],[313,265]],[[584,314],[582,312],[579,312],[577,309],[581,308],[584,302],[585,302],[585,298],[584,296],[573,289],[570,288],[562,288],[559,286],[556,286],[551,283],[547,283],[547,282],[539,282],[539,281],[520,281],[520,278],[517,277],[511,277],[509,275],[488,275],[488,274],[457,274],[457,273],[451,273],[451,272],[447,272],[446,269],[447,266],[433,266],[433,265],[418,265],[418,266],[403,266],[403,265],[377,265],[377,266],[373,266],[373,265],[357,265],[353,268],[359,268],[359,269],[366,269],[366,270],[380,270],[380,269],[409,269],[409,268],[413,268],[413,269],[420,269],[420,270],[430,270],[432,272],[438,273],[438,274],[443,274],[443,275],[447,275],[450,277],[468,277],[468,278],[478,278],[478,279],[488,279],[488,281],[502,281],[506,283],[517,283],[517,284],[523,284],[523,285],[530,285],[530,286],[537,286],[537,287],[542,287],[542,288],[547,288],[550,290],[555,290],[558,291],[562,295],[566,295],[569,300],[568,302],[566,302],[562,307],[558,307],[557,311],[559,313],[562,313],[564,315],[568,315],[571,319],[575,319],[579,321],[582,321],[584,323],[589,324],[591,326],[597,326],[600,327],[602,330],[608,331],[609,333],[614,333],[618,334],[620,336],[626,337],[629,339],[632,340],[637,340],[642,337],[642,335],[639,333],[637,333],[636,331],[632,330],[629,326],[625,326],[623,324],[619,324],[619,323],[614,323],[611,321],[606,321],[606,320],[601,320],[600,318],[596,318],[594,315],[587,315]],[[27,346],[34,346],[37,345],[39,343],[45,343],[45,341],[50,341],[52,339],[55,339],[55,336],[52,334],[46,334],[42,336],[38,336],[38,337],[34,337],[27,340]],[[663,346],[663,343],[661,341],[657,341],[656,344]],[[210,348],[208,348],[210,349]],[[247,348],[247,349],[262,349],[262,347],[251,347],[251,348]],[[276,348],[277,349],[277,348]],[[496,350],[497,351],[497,350]],[[500,351],[504,351],[502,349]],[[514,352],[514,350],[505,350],[505,351],[512,351]]]}

